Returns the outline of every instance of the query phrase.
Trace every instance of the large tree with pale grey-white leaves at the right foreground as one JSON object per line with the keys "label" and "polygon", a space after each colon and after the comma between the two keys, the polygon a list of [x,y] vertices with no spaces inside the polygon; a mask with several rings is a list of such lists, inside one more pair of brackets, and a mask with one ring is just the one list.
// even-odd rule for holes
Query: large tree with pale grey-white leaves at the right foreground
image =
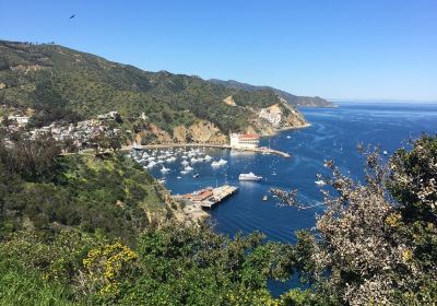
{"label": "large tree with pale grey-white leaves at the right foreground", "polygon": [[366,153],[365,184],[331,163],[335,192],[322,191],[326,210],[312,236],[300,234],[306,251],[294,258],[326,303],[437,302],[436,148],[436,137],[423,137],[388,164],[378,150]]}

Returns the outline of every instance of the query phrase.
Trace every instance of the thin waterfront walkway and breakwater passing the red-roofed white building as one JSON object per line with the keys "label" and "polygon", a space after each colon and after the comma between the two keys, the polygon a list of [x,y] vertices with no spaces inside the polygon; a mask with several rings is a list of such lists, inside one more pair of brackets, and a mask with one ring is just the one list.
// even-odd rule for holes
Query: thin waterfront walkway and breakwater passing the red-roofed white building
{"label": "thin waterfront walkway and breakwater passing the red-roofed white building", "polygon": [[285,158],[292,157],[291,154],[273,150],[265,146],[260,148],[234,148],[229,144],[212,144],[212,143],[162,143],[162,144],[145,144],[145,145],[134,145],[134,146],[127,146],[123,150],[156,150],[156,149],[168,149],[168,148],[212,148],[212,149],[225,149],[225,150],[236,150],[236,151],[246,151],[246,152],[255,152],[261,154],[275,154]]}

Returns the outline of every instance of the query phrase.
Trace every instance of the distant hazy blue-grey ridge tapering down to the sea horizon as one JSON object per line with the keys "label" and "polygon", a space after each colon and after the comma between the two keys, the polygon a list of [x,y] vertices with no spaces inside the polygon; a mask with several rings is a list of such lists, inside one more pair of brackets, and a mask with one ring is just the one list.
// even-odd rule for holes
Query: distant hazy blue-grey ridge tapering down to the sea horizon
{"label": "distant hazy blue-grey ridge tapering down to the sea horizon", "polygon": [[234,80],[222,81],[217,79],[211,79],[209,81],[213,84],[224,85],[228,89],[245,90],[249,92],[271,90],[276,95],[285,99],[290,105],[293,105],[294,107],[334,107],[334,104],[332,102],[329,102],[319,96],[296,96],[277,89],[273,89],[271,86],[255,86],[247,83],[237,82]]}

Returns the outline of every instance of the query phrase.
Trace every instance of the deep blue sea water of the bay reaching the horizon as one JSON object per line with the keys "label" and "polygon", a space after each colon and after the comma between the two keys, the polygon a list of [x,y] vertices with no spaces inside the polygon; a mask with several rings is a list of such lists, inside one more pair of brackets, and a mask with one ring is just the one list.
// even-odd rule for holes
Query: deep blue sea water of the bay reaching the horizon
{"label": "deep blue sea water of the bay reaching the horizon", "polygon": [[[359,178],[363,160],[356,151],[359,142],[379,144],[392,153],[405,145],[404,140],[417,138],[422,132],[437,132],[437,105],[424,104],[351,104],[341,103],[338,108],[302,109],[311,127],[284,131],[262,139],[262,144],[290,152],[292,158],[229,151],[208,151],[214,158],[225,158],[227,165],[213,169],[209,163],[193,165],[198,179],[182,176],[180,161],[168,164],[166,186],[173,193],[189,192],[216,184],[238,186],[239,192],[211,210],[216,231],[234,235],[238,231],[263,232],[269,239],[294,243],[295,232],[315,225],[316,213],[322,207],[308,210],[279,207],[268,195],[271,187],[297,189],[299,198],[307,203],[318,203],[322,197],[315,185],[316,174],[328,175],[323,160],[334,160],[341,169]],[[238,181],[240,173],[253,172],[263,176],[262,183]],[[163,177],[158,169],[153,175]],[[177,178],[181,176],[181,178]],[[281,285],[274,284],[273,292]]]}

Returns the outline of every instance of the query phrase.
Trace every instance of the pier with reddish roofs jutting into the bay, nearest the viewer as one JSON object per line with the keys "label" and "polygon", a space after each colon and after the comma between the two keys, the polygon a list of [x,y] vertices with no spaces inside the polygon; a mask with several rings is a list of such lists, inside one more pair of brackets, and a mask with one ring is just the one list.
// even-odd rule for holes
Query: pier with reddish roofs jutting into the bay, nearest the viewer
{"label": "pier with reddish roofs jutting into the bay, nearest the viewer", "polygon": [[198,204],[211,209],[238,191],[238,187],[223,185],[217,188],[206,187],[187,195],[176,195],[173,199],[186,204]]}

